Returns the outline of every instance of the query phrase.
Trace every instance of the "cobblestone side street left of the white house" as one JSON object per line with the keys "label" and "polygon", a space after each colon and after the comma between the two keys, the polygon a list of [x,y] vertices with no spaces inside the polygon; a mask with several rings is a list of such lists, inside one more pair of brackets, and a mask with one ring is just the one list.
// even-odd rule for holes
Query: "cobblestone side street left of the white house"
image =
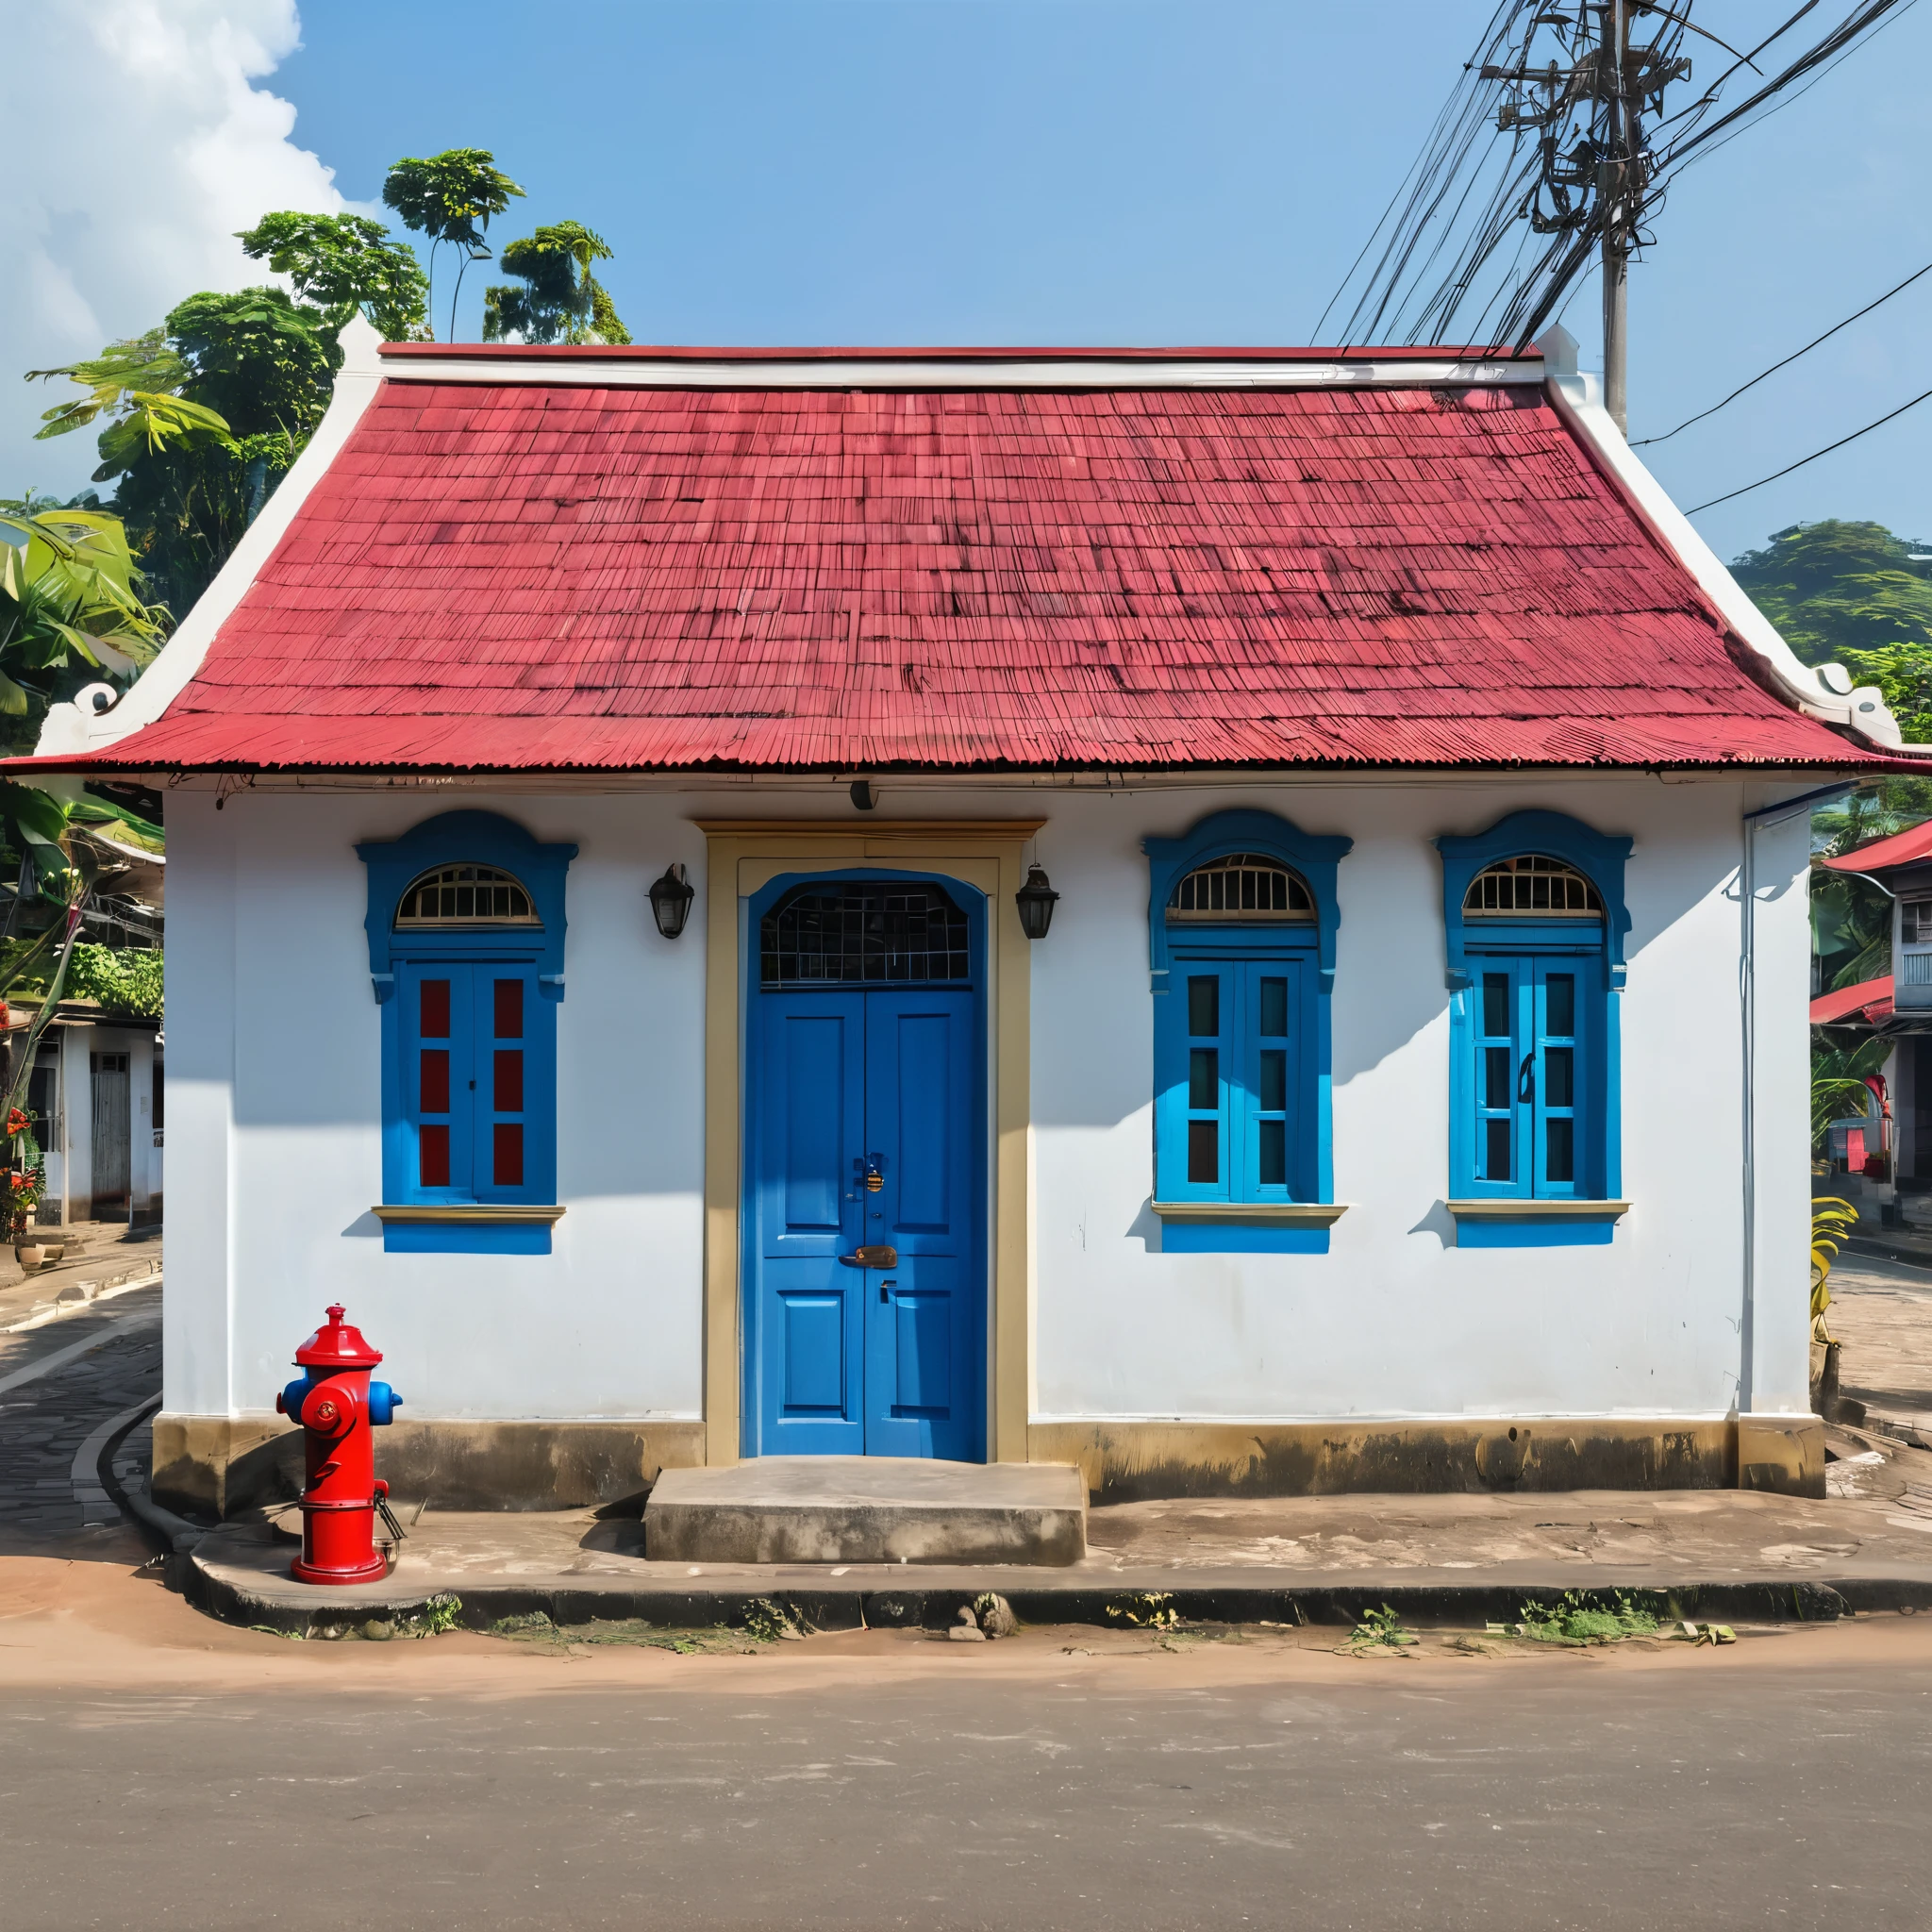
{"label": "cobblestone side street left of the white house", "polygon": [[[93,1345],[93,1347],[89,1347]],[[70,1352],[79,1350],[79,1352]],[[44,1374],[8,1383],[39,1364]],[[0,1551],[124,1555],[120,1515],[75,1457],[104,1424],[160,1393],[160,1285],[25,1335],[0,1337]],[[124,1468],[145,1459],[145,1428],[129,1434]]]}

